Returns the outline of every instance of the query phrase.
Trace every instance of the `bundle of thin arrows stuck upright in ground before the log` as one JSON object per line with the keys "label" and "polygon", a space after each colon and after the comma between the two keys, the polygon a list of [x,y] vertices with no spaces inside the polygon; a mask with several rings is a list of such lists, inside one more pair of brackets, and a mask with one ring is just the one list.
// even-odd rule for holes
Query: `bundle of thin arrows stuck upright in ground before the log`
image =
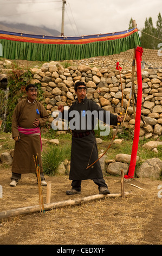
{"label": "bundle of thin arrows stuck upright in ground before the log", "polygon": [[[37,180],[38,180],[38,192],[39,192],[39,199],[40,199],[40,212],[42,211],[43,214],[45,214],[44,203],[43,203],[42,185],[41,185],[40,165],[39,165],[39,160],[38,160],[38,153],[36,153],[36,156],[33,156],[33,157],[34,157],[36,175],[37,175]],[[42,205],[42,208],[41,208],[41,205]]]}

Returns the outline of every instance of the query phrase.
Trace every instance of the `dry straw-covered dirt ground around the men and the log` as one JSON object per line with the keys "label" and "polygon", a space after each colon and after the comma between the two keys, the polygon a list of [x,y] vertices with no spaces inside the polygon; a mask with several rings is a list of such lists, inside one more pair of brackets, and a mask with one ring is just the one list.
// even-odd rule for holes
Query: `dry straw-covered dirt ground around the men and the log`
{"label": "dry straw-covered dirt ground around the men and the log", "polygon": [[[11,168],[0,164],[0,211],[39,204],[34,174],[22,175],[16,187],[10,187]],[[121,193],[119,176],[106,176],[111,193]],[[98,194],[92,180],[82,181],[82,193],[67,196],[68,176],[46,176],[51,181],[51,203]],[[143,190],[134,187],[134,184]],[[158,197],[161,180],[134,178],[124,182],[124,199],[103,198],[75,206],[66,206],[34,214],[0,220],[1,245],[161,245],[162,206]],[[159,191],[160,192],[160,191]],[[47,187],[43,187],[46,203]],[[162,194],[160,192],[160,194]]]}

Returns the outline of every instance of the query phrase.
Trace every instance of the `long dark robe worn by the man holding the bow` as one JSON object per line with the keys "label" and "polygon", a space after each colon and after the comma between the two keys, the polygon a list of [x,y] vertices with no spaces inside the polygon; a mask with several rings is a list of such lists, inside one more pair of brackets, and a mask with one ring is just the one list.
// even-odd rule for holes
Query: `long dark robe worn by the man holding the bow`
{"label": "long dark robe worn by the man holding the bow", "polygon": [[[89,165],[95,162],[98,159],[98,148],[96,145],[96,139],[93,132],[95,126],[95,120],[92,119],[92,129],[88,130],[87,124],[86,129],[81,129],[81,116],[86,111],[99,111],[103,112],[103,120],[106,120],[106,111],[105,109],[99,107],[96,102],[92,100],[88,100],[87,97],[79,103],[75,101],[73,105],[69,108],[68,114],[66,111],[63,112],[62,118],[66,118],[68,116],[68,121],[72,118],[69,117],[70,112],[77,111],[80,114],[80,129],[74,129],[72,131],[72,151],[71,151],[71,162],[70,162],[70,180],[86,180],[86,179],[95,179],[95,178],[103,178],[100,162],[96,162],[92,167],[87,168],[87,164]],[[60,116],[60,114],[59,114]],[[83,120],[83,119],[82,119]],[[117,116],[110,114],[109,115],[110,125],[117,125]],[[83,137],[82,137],[83,134]],[[93,149],[93,150],[92,150]]]}

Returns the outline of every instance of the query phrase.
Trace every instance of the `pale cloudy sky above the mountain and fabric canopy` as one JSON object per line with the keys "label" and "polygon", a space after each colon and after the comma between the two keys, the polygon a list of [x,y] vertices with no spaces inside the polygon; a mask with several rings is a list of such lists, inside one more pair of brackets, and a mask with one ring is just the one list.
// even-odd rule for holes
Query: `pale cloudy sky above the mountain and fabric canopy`
{"label": "pale cloudy sky above the mountain and fabric canopy", "polygon": [[[61,32],[62,0],[0,0],[0,21],[45,26]],[[106,34],[128,29],[131,18],[138,29],[162,16],[161,0],[66,0],[64,35]]]}

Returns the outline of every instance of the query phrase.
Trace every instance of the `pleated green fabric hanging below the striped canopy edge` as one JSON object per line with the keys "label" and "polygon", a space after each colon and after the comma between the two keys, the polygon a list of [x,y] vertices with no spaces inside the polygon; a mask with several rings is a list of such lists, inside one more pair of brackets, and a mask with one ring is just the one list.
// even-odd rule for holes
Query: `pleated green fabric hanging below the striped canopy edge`
{"label": "pleated green fabric hanging below the striped canopy edge", "polygon": [[70,60],[85,59],[97,56],[119,54],[140,46],[138,32],[125,38],[90,42],[88,44],[36,44],[33,42],[20,42],[0,39],[3,47],[3,58],[40,60]]}

